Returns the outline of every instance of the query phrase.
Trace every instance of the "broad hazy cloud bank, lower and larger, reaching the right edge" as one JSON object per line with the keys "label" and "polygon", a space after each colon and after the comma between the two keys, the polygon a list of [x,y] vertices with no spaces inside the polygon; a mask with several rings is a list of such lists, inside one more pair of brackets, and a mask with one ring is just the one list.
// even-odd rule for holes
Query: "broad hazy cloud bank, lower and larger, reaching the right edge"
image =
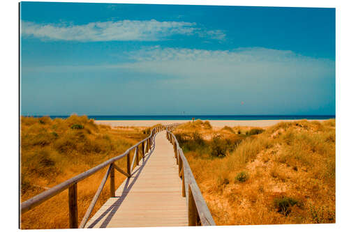
{"label": "broad hazy cloud bank, lower and larger, reaching the right edge", "polygon": [[334,77],[334,61],[262,47],[230,51],[148,47],[128,56],[135,62],[115,68],[223,82]]}

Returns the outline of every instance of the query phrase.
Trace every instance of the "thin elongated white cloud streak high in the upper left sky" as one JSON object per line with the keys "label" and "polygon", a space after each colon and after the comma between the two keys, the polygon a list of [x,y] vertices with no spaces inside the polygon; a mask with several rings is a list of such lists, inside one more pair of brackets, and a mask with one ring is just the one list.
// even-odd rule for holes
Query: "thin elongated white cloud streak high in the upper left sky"
{"label": "thin elongated white cloud streak high in the upper left sky", "polygon": [[197,35],[202,38],[224,40],[220,30],[208,31],[193,22],[159,22],[156,20],[122,20],[117,22],[90,22],[83,25],[37,24],[22,21],[22,35],[43,40],[111,41],[142,40],[157,41],[174,35]]}

